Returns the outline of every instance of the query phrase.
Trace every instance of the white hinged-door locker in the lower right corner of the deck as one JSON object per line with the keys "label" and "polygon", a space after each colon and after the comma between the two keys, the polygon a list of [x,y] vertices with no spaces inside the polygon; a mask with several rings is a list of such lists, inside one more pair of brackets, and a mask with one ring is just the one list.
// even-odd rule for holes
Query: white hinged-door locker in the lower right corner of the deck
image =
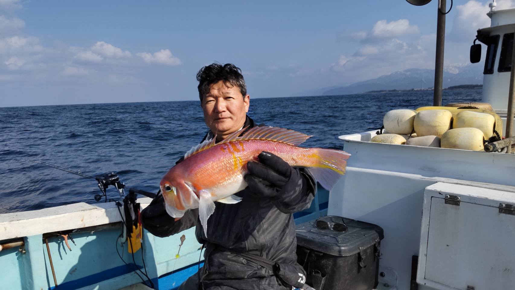
{"label": "white hinged-door locker in the lower right corner of the deck", "polygon": [[[460,197],[445,204],[446,194]],[[499,213],[515,204],[515,191],[438,182],[428,186],[417,282],[440,290],[510,289],[515,285],[515,215]]]}

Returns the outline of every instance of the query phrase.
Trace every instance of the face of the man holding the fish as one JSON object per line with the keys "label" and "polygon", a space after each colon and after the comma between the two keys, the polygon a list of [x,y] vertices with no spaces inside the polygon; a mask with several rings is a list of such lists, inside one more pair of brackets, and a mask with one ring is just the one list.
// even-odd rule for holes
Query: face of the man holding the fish
{"label": "face of the man holding the fish", "polygon": [[217,139],[225,139],[243,126],[249,103],[250,96],[243,96],[237,86],[224,81],[213,83],[202,99],[204,122]]}

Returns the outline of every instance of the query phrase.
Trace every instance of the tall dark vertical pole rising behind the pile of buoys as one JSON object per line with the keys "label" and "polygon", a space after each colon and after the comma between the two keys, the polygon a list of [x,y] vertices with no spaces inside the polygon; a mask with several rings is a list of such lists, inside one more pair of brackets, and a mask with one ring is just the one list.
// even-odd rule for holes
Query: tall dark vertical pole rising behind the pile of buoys
{"label": "tall dark vertical pole rising behind the pile of buoys", "polygon": [[443,81],[443,48],[445,44],[445,7],[446,0],[438,2],[438,20],[436,24],[436,60],[435,60],[435,90],[433,106],[442,105],[442,81]]}

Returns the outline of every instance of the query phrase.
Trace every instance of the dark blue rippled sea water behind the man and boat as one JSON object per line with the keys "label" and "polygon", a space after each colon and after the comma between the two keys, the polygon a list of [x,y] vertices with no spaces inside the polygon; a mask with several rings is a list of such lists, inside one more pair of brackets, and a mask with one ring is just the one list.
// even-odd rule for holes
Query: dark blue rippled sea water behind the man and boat
{"label": "dark blue rippled sea water behind the man and boat", "polygon": [[[480,101],[481,94],[443,91],[442,104]],[[432,91],[258,98],[248,115],[313,135],[302,146],[341,149],[339,135],[379,129],[389,110],[432,104]],[[95,180],[37,161],[93,176],[116,172],[128,186],[157,192],[207,131],[199,101],[0,108],[0,213],[96,203]],[[107,193],[118,197],[113,187]]]}

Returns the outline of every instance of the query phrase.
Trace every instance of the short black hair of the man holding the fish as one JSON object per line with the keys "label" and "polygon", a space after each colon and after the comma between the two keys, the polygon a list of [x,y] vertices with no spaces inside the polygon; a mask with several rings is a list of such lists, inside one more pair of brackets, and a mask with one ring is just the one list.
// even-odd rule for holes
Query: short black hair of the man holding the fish
{"label": "short black hair of the man holding the fish", "polygon": [[200,101],[209,93],[210,86],[220,80],[225,84],[237,86],[239,92],[245,97],[247,95],[247,85],[243,79],[242,70],[232,63],[221,65],[219,63],[212,63],[202,67],[197,73],[198,80],[198,96]]}

